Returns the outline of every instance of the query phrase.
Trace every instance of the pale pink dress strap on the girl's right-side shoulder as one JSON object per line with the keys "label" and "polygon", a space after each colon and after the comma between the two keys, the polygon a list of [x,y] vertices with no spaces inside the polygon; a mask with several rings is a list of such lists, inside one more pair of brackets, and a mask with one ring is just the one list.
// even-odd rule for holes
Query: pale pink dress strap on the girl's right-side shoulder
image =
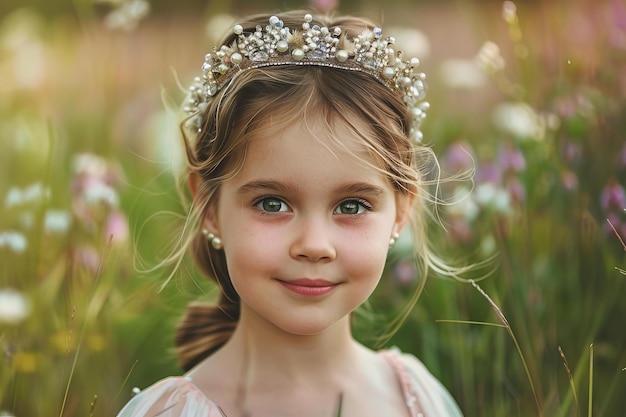
{"label": "pale pink dress strap on the girl's right-side shoulder", "polygon": [[462,417],[448,390],[419,359],[397,348],[380,354],[394,368],[412,416]]}

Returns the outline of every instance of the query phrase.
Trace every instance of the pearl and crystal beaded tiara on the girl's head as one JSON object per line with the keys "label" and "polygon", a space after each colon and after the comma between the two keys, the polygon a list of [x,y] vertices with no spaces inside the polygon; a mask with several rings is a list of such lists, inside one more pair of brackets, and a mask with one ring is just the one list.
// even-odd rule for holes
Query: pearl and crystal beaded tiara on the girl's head
{"label": "pearl and crystal beaded tiara on the girl's head", "polygon": [[426,76],[416,71],[419,60],[402,60],[402,52],[393,49],[395,38],[383,38],[380,28],[351,38],[342,34],[339,27],[312,25],[312,20],[306,14],[301,30],[284,26],[276,16],[270,17],[268,25],[258,25],[251,33],[235,25],[233,32],[237,40],[232,45],[214,47],[204,58],[202,76],[196,77],[189,88],[184,110],[196,116],[190,119],[192,126],[200,131],[202,111],[207,103],[241,72],[276,65],[314,65],[361,71],[374,76],[391,91],[401,93],[413,118],[410,137],[421,142],[419,126],[429,104],[424,101]]}

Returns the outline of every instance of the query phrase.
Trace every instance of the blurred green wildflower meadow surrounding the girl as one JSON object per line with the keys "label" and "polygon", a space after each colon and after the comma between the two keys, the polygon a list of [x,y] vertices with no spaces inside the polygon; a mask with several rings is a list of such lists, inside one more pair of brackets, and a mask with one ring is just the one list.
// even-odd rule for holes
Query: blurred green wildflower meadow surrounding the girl
{"label": "blurred green wildflower meadow surrounding the girl", "polygon": [[[369,17],[420,57],[425,141],[448,175],[476,171],[443,186],[432,238],[491,259],[465,277],[484,279],[430,277],[385,346],[468,417],[624,415],[622,0],[3,0],[0,415],[111,416],[180,373],[173,328],[215,289],[154,268],[184,225],[177,109],[238,16],[301,7]],[[407,241],[381,321],[423,279]],[[371,346],[376,323],[356,329]]]}

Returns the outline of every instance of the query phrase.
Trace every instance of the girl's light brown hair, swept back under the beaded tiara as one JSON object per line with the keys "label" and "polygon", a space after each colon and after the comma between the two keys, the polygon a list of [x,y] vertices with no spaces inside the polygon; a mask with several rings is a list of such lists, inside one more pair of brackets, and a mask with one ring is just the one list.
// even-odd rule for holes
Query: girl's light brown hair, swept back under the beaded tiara
{"label": "girl's light brown hair, swept back under the beaded tiara", "polygon": [[[279,18],[296,27],[303,14],[290,12]],[[252,29],[267,22],[268,17],[252,17],[242,26]],[[340,26],[351,35],[374,27],[355,17],[333,20],[318,16],[314,23]],[[232,38],[223,43],[229,44]],[[199,133],[185,134],[183,127],[188,173],[201,178],[190,214],[197,227],[190,230],[189,252],[200,270],[220,287],[216,304],[191,304],[177,328],[177,354],[186,370],[226,343],[239,319],[239,296],[230,282],[224,253],[207,243],[200,233],[199,219],[216,204],[223,181],[237,174],[249,139],[267,127],[270,117],[274,117],[271,128],[276,129],[296,119],[305,120],[309,112],[331,130],[336,121],[350,127],[378,162],[370,165],[386,175],[397,192],[415,196],[411,231],[420,275],[425,277],[429,267],[440,269],[443,265],[429,249],[424,204],[432,200],[427,190],[431,182],[426,179],[434,176],[436,183],[438,165],[430,148],[409,140],[412,118],[399,94],[373,76],[356,71],[307,65],[246,70],[208,103]],[[360,118],[371,131],[359,132],[354,118]],[[335,142],[342,146],[340,138]],[[423,284],[424,279],[393,327],[404,320]]]}

